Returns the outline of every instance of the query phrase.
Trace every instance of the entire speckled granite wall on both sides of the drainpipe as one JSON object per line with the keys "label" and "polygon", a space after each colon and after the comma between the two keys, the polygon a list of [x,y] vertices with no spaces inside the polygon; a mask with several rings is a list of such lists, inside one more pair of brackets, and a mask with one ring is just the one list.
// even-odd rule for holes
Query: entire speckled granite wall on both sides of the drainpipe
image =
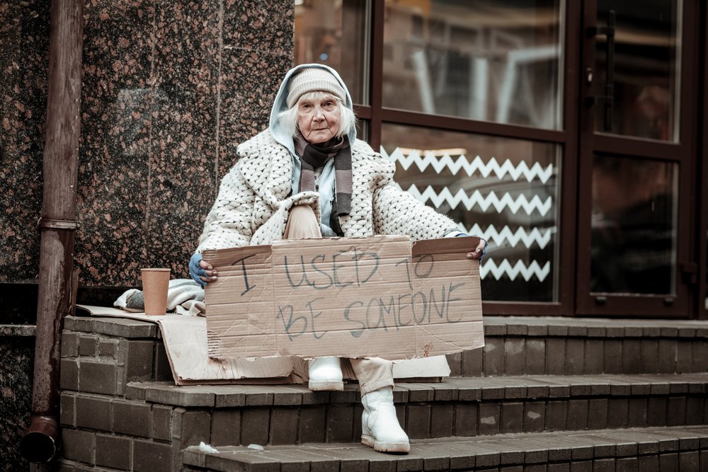
{"label": "entire speckled granite wall on both sides of the drainpipe", "polygon": [[[292,1],[86,0],[76,267],[139,285],[187,260],[236,145],[292,65]],[[0,282],[38,275],[49,2],[0,0]]]}

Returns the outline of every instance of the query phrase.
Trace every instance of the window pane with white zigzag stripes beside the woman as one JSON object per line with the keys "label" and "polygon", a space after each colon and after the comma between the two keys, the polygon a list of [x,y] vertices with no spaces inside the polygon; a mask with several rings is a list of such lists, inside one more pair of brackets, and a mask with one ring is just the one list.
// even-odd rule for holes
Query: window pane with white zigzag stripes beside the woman
{"label": "window pane with white zigzag stripes beside the woman", "polygon": [[384,124],[381,152],[401,188],[489,241],[485,300],[557,300],[559,146]]}

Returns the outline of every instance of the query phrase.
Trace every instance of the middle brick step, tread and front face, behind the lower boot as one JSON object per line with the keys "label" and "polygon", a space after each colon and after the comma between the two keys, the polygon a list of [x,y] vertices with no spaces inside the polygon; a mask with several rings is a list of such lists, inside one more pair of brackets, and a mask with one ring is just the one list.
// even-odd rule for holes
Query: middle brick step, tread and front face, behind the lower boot
{"label": "middle brick step, tread and front face, behind the lower boot", "polygon": [[[708,374],[520,376],[396,384],[394,401],[412,439],[623,427],[708,425]],[[225,444],[354,442],[358,386],[173,386],[140,382],[125,398],[63,392],[64,437],[120,442]],[[86,436],[88,434],[89,436]],[[83,437],[86,437],[82,439]],[[137,438],[137,439],[136,439]],[[139,439],[139,441],[138,441]]]}

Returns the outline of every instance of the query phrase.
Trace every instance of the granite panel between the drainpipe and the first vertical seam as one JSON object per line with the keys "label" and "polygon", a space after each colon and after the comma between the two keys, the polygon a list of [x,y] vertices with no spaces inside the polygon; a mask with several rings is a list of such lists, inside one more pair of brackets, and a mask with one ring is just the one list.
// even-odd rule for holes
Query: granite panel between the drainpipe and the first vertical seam
{"label": "granite panel between the drainpipe and the first vertical seam", "polygon": [[145,251],[154,7],[85,6],[75,266],[80,283],[132,284]]}

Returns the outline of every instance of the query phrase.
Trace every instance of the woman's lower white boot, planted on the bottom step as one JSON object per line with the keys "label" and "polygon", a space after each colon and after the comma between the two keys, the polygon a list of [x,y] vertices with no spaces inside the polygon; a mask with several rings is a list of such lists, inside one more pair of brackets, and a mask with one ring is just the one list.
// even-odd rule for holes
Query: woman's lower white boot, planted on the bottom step
{"label": "woman's lower white boot, planted on the bottom step", "polygon": [[361,442],[379,452],[411,450],[408,435],[399,425],[394,407],[394,388],[382,387],[361,398]]}

